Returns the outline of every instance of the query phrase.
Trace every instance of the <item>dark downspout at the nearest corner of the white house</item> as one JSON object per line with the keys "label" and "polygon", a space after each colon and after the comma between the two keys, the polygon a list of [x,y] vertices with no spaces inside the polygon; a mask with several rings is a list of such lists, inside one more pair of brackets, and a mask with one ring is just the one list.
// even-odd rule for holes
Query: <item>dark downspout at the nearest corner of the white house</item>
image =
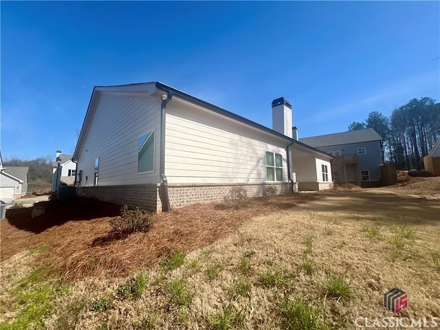
{"label": "dark downspout at the nearest corner of the white house", "polygon": [[[165,97],[165,95],[164,95]],[[165,175],[165,124],[166,124],[166,104],[170,102],[173,98],[173,92],[168,91],[168,94],[160,106],[160,162],[159,162],[159,173],[160,173],[160,187],[159,187],[159,197],[162,200],[162,211],[168,212],[171,210],[170,199],[168,197],[168,180]]]}

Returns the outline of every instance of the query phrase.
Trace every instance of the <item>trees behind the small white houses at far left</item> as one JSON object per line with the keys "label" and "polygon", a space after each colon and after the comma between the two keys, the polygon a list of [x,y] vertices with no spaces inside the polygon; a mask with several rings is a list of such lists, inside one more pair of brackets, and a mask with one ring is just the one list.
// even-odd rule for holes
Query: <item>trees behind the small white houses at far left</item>
{"label": "trees behind the small white houses at far left", "polygon": [[52,182],[52,159],[50,157],[30,160],[11,157],[4,160],[3,166],[6,168],[5,172],[8,172],[8,166],[28,167],[30,184],[50,184]]}

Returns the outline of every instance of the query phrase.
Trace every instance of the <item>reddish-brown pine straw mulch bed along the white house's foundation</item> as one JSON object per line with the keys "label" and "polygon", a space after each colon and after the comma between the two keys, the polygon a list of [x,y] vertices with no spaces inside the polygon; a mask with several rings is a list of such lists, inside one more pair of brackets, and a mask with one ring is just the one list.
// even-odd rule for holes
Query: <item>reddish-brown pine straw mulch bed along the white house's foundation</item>
{"label": "reddish-brown pine straw mulch bed along the white house's foundation", "polygon": [[154,216],[149,232],[136,232],[124,239],[112,234],[109,220],[120,214],[120,206],[94,199],[77,198],[74,203],[53,202],[39,217],[32,208],[8,210],[1,221],[1,261],[46,245],[37,263],[47,263],[63,278],[124,276],[164,259],[173,250],[190,252],[221,239],[252,217],[320,198],[319,194],[289,194],[270,201],[251,199],[236,209],[224,203],[196,204]]}

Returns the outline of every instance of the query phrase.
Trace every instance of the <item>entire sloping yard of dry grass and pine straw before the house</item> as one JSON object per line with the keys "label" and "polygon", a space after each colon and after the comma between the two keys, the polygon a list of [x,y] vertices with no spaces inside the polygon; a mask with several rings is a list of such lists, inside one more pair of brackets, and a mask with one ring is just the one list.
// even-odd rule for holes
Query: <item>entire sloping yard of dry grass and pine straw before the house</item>
{"label": "entire sloping yard of dry grass and pine straw before the house", "polygon": [[409,297],[399,316],[440,317],[439,181],[423,179],[181,208],[123,240],[115,214],[70,210],[45,228],[15,210],[1,221],[1,329],[355,329],[393,316],[393,287]]}

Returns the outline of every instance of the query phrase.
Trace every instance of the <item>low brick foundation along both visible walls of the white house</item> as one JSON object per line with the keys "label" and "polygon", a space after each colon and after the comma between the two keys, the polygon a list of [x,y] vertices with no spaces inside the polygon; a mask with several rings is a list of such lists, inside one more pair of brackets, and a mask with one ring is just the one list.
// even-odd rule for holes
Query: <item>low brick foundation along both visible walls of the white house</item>
{"label": "low brick foundation along both visible walls of the white house", "polygon": [[[168,198],[171,208],[181,208],[194,203],[222,202],[234,186],[243,186],[248,197],[261,196],[266,184],[169,184]],[[78,187],[77,194],[94,197],[102,201],[126,204],[131,207],[144,208],[162,212],[162,201],[159,197],[160,184],[135,184],[124,186],[91,186]],[[289,192],[289,183],[269,184],[276,186],[276,194]]]}

